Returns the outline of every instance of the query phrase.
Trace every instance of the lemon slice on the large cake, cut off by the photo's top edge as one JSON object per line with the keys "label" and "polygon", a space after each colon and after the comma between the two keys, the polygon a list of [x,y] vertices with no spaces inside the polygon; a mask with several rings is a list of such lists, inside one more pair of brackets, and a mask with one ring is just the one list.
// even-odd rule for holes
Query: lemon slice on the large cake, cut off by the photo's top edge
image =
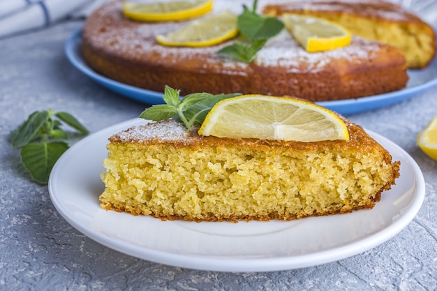
{"label": "lemon slice on the large cake, cut off by the photo's top edge", "polygon": [[212,0],[125,2],[123,4],[123,13],[126,17],[142,22],[187,20],[205,15],[211,10]]}

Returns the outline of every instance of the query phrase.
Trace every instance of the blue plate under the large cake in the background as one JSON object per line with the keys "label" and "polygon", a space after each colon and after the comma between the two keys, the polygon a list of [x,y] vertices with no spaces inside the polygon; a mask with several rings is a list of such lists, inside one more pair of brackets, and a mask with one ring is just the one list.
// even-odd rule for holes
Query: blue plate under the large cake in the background
{"label": "blue plate under the large cake in the background", "polygon": [[[137,100],[140,101],[141,103],[146,103],[149,105],[163,103],[163,94],[161,94],[160,92],[151,91],[148,89],[142,89],[129,84],[124,84],[116,80],[112,80],[108,77],[105,77],[97,73],[89,66],[87,66],[82,56],[80,56],[80,52],[77,52],[75,50],[76,43],[78,41],[82,41],[82,30],[83,27],[77,29],[77,31],[75,31],[66,40],[64,44],[64,52],[66,54],[66,57],[68,61],[70,61],[71,64],[75,68],[77,68],[77,70],[80,70],[80,72],[84,73],[84,75],[87,75],[95,82],[101,84],[103,87],[107,87],[112,91],[116,91],[117,93],[124,95],[127,98],[131,98],[133,100]],[[437,62],[437,57],[434,57],[431,63],[432,62]],[[431,66],[431,64],[429,66]],[[423,70],[426,69],[427,68],[424,68]],[[408,71],[415,71],[415,69],[408,70]],[[427,89],[434,87],[436,85],[437,85],[437,75],[436,77],[434,77],[434,79],[429,80],[423,84],[418,84],[412,87],[406,87],[398,91],[392,91],[385,94],[378,94],[373,96],[363,96],[360,98],[350,98],[350,99],[332,100],[332,101],[318,101],[316,103],[323,107],[327,107],[329,110],[334,110],[336,112],[339,112],[340,114],[345,114],[345,115],[355,114],[360,112],[366,112],[369,110],[375,110],[380,107],[386,107],[389,105],[393,105],[395,103],[400,103],[401,101],[406,100],[408,98],[412,98],[417,94],[421,94],[423,91],[426,91]],[[126,94],[126,91],[128,91],[129,94]],[[148,102],[148,100],[146,100],[145,97],[142,96],[144,94],[150,95],[148,98],[150,102]],[[378,103],[382,105],[378,105]]]}

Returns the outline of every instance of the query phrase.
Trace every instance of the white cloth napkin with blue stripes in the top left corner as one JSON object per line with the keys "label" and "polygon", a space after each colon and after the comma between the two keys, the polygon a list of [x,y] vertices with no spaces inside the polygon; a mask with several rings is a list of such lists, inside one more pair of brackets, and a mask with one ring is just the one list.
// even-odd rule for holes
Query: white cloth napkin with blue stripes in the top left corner
{"label": "white cloth napkin with blue stripes in the top left corner", "polygon": [[108,0],[0,0],[0,38],[47,27],[67,17],[87,17]]}

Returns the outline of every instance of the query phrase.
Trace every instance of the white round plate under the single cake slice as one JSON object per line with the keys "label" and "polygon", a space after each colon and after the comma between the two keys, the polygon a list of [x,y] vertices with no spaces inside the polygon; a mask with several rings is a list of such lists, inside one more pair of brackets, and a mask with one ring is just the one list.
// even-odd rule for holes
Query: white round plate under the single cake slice
{"label": "white round plate under the single cake slice", "polygon": [[401,177],[376,207],[351,214],[297,221],[193,223],[105,211],[105,145],[110,135],[144,124],[133,119],[89,135],[61,156],[49,181],[50,197],[73,227],[114,250],[144,260],[212,271],[276,271],[341,260],[382,244],[419,211],[424,179],[413,158],[399,146],[370,133],[401,161]]}

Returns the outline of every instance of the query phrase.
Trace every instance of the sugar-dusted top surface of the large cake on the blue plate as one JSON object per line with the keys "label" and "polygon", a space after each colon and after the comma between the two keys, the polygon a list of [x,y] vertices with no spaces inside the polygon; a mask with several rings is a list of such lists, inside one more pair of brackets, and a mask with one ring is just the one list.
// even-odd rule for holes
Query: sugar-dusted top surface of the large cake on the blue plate
{"label": "sugar-dusted top surface of the large cake on the blue plate", "polygon": [[[261,3],[265,5],[269,2],[262,1]],[[121,12],[121,3],[119,0],[112,1],[89,17],[85,24],[83,38],[96,50],[102,50],[121,59],[135,61],[138,64],[142,64],[142,61],[145,60],[147,60],[147,64],[156,62],[156,66],[165,66],[165,64],[170,66],[170,64],[174,65],[174,62],[177,62],[179,68],[190,69],[191,66],[198,66],[191,60],[198,59],[200,55],[203,55],[205,61],[202,66],[205,70],[238,74],[244,73],[248,66],[281,66],[290,72],[314,73],[329,67],[338,68],[339,63],[343,61],[353,60],[357,66],[376,61],[374,59],[376,52],[383,46],[380,43],[353,37],[352,43],[347,47],[309,53],[290,36],[286,29],[283,29],[278,36],[269,40],[265,47],[258,52],[253,65],[249,65],[216,54],[221,47],[229,45],[229,41],[211,47],[164,47],[159,45],[155,40],[157,35],[175,31],[184,22],[133,22],[124,17]],[[215,1],[213,13],[228,9],[239,14],[242,10],[242,3],[251,5],[251,1],[247,0],[241,1],[239,5],[235,1]],[[281,0],[274,1],[274,3],[281,3]]]}

